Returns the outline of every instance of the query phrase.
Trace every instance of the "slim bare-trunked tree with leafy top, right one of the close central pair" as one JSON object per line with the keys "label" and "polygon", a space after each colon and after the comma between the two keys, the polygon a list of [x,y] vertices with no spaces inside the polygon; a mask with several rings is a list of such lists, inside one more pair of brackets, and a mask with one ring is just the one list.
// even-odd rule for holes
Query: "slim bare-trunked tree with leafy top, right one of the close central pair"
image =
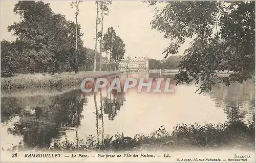
{"label": "slim bare-trunked tree with leafy top, right one of the close central pair", "polygon": [[[108,5],[111,5],[111,1],[100,1],[100,10],[101,10],[101,32],[100,32],[100,65],[99,71],[101,71],[101,56],[102,56],[102,42],[103,42],[103,15],[109,15],[109,8]],[[108,55],[108,54],[106,54]],[[107,56],[108,57],[108,56]]]}

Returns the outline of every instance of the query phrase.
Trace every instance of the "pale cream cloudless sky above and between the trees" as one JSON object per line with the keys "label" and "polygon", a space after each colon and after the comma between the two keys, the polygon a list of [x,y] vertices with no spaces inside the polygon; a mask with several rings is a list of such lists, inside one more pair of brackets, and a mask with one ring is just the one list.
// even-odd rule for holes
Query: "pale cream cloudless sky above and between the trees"
{"label": "pale cream cloudless sky above and between the trees", "polygon": [[[71,1],[44,1],[50,3],[53,12],[65,15],[68,20],[75,21],[75,9],[71,8]],[[19,15],[13,12],[17,1],[1,1],[1,40],[14,40],[14,36],[7,31],[7,27],[13,22],[19,21]],[[104,17],[103,33],[108,27],[113,27],[125,43],[126,56],[140,56],[154,59],[163,59],[162,52],[170,41],[163,38],[163,34],[152,29],[150,22],[153,20],[154,8],[148,7],[141,1],[112,1],[109,6],[109,15]],[[100,13],[100,12],[99,12]],[[96,5],[94,1],[83,1],[79,4],[78,23],[83,33],[83,44],[87,48],[94,49]],[[98,26],[100,30],[101,25]],[[177,55],[183,55],[188,46],[186,42],[181,46]],[[99,47],[99,45],[98,45]],[[104,55],[103,55],[104,56]]]}

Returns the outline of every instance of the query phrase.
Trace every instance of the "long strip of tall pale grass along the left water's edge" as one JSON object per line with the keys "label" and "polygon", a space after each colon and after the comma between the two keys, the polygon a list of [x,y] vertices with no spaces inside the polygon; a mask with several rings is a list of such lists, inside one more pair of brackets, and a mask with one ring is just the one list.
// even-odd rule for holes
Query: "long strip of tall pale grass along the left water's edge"
{"label": "long strip of tall pale grass along the left water's edge", "polygon": [[106,77],[121,72],[74,72],[62,74],[26,74],[14,77],[1,78],[1,88],[17,89],[17,88],[62,88],[67,86],[76,86],[83,78]]}

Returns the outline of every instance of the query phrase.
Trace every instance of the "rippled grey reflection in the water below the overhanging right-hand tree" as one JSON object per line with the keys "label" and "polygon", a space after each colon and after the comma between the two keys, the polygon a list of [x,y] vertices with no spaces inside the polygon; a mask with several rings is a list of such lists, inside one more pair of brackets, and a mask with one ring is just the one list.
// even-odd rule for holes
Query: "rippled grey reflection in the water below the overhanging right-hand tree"
{"label": "rippled grey reflection in the water below the overhanging right-hand tree", "polygon": [[232,83],[226,87],[223,83],[217,83],[212,91],[204,96],[209,96],[215,101],[217,107],[224,109],[228,116],[232,114],[232,108],[239,108],[239,117],[249,121],[253,118],[255,108],[254,80],[248,80],[243,84]]}

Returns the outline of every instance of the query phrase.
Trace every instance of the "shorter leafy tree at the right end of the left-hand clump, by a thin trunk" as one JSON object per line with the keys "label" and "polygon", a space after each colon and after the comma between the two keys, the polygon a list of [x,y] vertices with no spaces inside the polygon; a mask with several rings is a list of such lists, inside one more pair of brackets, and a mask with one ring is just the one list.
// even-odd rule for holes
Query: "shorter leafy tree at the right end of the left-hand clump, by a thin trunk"
{"label": "shorter leafy tree at the right end of the left-hand clump, by a thin trunk", "polygon": [[[77,72],[78,66],[81,66],[82,61],[85,58],[81,56],[86,55],[86,51],[82,51],[82,33],[80,32],[80,26],[72,21],[67,21],[65,16],[57,14],[54,15],[53,21],[53,38],[54,38],[54,56],[50,60],[51,71],[75,71]],[[77,41],[76,41],[77,36]],[[75,54],[75,43],[77,42],[78,51],[81,53]],[[84,53],[85,52],[85,53]],[[82,59],[82,60],[81,60]],[[77,62],[79,61],[79,62]],[[54,65],[53,65],[54,64]]]}

